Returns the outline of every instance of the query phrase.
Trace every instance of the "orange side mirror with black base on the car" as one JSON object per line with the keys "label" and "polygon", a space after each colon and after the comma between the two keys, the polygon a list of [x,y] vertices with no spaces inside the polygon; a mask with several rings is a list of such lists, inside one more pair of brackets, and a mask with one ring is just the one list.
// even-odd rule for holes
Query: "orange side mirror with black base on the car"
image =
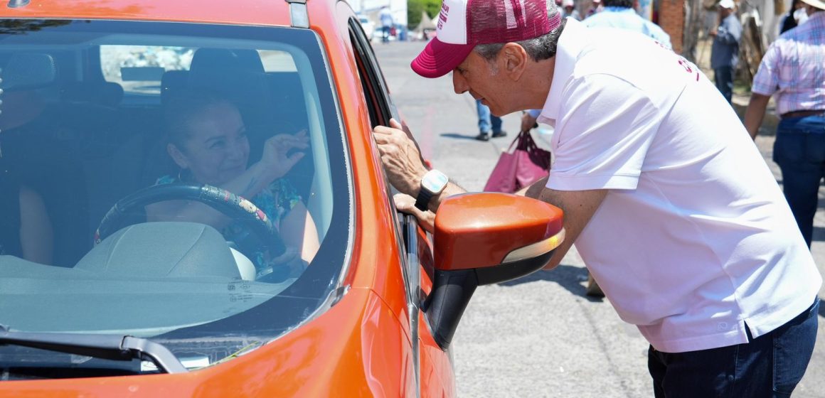
{"label": "orange side mirror with black base on the car", "polygon": [[442,201],[433,243],[436,269],[424,306],[441,348],[450,346],[475,288],[534,273],[562,241],[563,213],[551,204],[488,192]]}

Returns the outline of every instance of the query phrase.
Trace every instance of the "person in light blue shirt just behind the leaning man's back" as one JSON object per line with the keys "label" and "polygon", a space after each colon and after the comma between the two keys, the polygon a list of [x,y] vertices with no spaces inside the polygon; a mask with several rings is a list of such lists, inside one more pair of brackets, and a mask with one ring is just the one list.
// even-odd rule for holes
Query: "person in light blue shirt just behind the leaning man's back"
{"label": "person in light blue shirt just behind the leaning man's back", "polygon": [[639,16],[634,10],[634,0],[603,0],[604,10],[587,17],[583,22],[588,27],[610,27],[634,30],[671,49],[670,35],[661,27]]}

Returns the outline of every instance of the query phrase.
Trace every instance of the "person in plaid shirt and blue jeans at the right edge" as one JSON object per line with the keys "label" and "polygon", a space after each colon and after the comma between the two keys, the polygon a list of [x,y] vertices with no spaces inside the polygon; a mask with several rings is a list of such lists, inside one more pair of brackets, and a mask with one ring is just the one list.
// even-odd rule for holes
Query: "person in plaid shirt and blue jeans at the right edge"
{"label": "person in plaid shirt and blue jeans at the right edge", "polygon": [[808,21],[780,35],[753,77],[745,127],[756,139],[771,96],[776,127],[773,160],[782,171],[785,199],[811,246],[819,184],[825,176],[825,1],[803,0]]}

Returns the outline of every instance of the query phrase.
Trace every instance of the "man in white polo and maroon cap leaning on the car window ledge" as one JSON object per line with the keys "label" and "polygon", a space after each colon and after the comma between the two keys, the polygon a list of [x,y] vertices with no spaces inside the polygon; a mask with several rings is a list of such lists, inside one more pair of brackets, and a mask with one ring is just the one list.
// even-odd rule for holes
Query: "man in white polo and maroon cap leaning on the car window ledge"
{"label": "man in white polo and maroon cap leaning on the car window ledge", "polygon": [[[693,63],[553,7],[445,0],[413,70],[452,72],[455,92],[493,115],[540,109],[554,126],[554,166],[526,191],[564,211],[568,239],[545,269],[575,242],[648,339],[656,396],[789,396],[813,352],[822,278],[746,129]],[[464,190],[428,171],[400,127],[376,127],[375,141],[409,195],[398,207],[428,222]]]}

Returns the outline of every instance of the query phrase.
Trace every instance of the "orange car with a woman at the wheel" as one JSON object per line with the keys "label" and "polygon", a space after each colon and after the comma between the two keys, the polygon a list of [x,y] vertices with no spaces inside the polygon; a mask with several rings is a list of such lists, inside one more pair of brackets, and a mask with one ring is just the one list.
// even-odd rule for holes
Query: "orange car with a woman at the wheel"
{"label": "orange car with a woman at the wheel", "polygon": [[0,396],[454,396],[474,288],[563,240],[509,194],[396,213],[346,2],[0,14]]}

